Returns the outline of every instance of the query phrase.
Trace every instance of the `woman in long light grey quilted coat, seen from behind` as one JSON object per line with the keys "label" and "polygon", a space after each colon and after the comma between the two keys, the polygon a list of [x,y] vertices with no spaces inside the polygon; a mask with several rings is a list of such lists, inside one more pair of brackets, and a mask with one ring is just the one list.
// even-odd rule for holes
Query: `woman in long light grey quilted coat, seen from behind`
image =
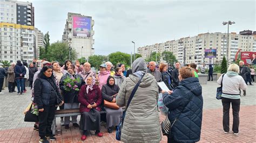
{"label": "woman in long light grey quilted coat, seen from behind", "polygon": [[132,64],[132,75],[126,77],[117,96],[117,105],[125,106],[131,92],[143,76],[126,111],[121,141],[124,142],[160,142],[161,131],[157,109],[158,85],[154,76],[146,73],[147,66],[143,58]]}

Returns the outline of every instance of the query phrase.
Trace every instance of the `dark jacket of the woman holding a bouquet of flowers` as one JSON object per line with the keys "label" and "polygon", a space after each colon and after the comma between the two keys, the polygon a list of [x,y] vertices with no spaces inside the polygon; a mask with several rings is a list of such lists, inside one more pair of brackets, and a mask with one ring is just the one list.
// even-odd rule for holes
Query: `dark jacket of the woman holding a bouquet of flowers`
{"label": "dark jacket of the woman holding a bouquet of flowers", "polygon": [[62,78],[59,81],[59,87],[60,90],[62,90],[63,92],[63,96],[64,96],[64,103],[79,103],[78,102],[78,92],[76,90],[71,89],[70,91],[66,91],[65,90],[65,85],[64,85],[64,81],[65,78],[67,77],[74,77],[74,78],[80,78],[79,79],[79,83],[77,83],[78,89],[80,89],[82,87],[82,85],[85,83],[83,80],[83,77],[79,74],[75,74],[75,75],[71,75],[69,73],[66,73],[65,75],[62,76]]}

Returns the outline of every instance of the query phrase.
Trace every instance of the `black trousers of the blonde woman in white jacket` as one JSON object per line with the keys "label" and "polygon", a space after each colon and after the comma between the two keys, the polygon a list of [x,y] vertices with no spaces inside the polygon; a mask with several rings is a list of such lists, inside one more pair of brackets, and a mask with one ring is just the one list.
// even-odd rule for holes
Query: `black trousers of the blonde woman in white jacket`
{"label": "black trousers of the blonde woman in white jacket", "polygon": [[224,98],[221,99],[223,105],[223,129],[225,132],[230,131],[230,103],[232,104],[233,112],[233,127],[232,131],[238,133],[239,127],[239,110],[240,110],[240,99],[230,99]]}

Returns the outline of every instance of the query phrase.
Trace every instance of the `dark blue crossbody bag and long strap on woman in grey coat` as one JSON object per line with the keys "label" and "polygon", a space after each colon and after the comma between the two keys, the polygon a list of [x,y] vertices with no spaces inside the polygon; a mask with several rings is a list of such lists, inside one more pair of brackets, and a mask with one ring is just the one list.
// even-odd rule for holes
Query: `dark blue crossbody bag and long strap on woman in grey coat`
{"label": "dark blue crossbody bag and long strap on woman in grey coat", "polygon": [[[145,74],[144,74],[144,75],[145,75]],[[143,76],[144,76],[144,75],[143,75]],[[143,76],[142,76],[142,78],[143,78]],[[135,92],[137,91],[137,89],[138,89],[138,87],[139,87],[140,82],[142,81],[142,78],[140,78],[139,82],[135,85],[135,87],[134,87],[133,90],[132,90],[131,96],[129,97],[129,100],[128,100],[128,102],[127,102],[127,105],[126,105],[125,111],[124,111],[124,113],[123,113],[123,116],[121,117],[120,123],[119,123],[119,125],[117,126],[116,140],[119,140],[119,141],[121,140],[122,128],[123,128],[123,124],[124,124],[124,118],[125,118],[126,111],[127,111],[128,107],[129,107],[131,101],[132,101],[132,98],[133,98]]]}

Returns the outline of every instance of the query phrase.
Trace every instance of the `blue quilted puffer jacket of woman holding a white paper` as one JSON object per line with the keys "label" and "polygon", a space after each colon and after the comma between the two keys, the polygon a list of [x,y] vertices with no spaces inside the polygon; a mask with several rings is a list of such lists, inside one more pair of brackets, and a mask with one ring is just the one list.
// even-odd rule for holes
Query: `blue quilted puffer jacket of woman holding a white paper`
{"label": "blue quilted puffer jacket of woman holding a white paper", "polygon": [[[188,103],[188,101],[190,102]],[[190,77],[180,81],[179,86],[173,90],[171,95],[167,92],[163,94],[163,102],[169,108],[168,118],[171,123],[180,114],[171,128],[168,138],[174,138],[178,142],[199,141],[203,116],[203,96],[198,78]]]}

